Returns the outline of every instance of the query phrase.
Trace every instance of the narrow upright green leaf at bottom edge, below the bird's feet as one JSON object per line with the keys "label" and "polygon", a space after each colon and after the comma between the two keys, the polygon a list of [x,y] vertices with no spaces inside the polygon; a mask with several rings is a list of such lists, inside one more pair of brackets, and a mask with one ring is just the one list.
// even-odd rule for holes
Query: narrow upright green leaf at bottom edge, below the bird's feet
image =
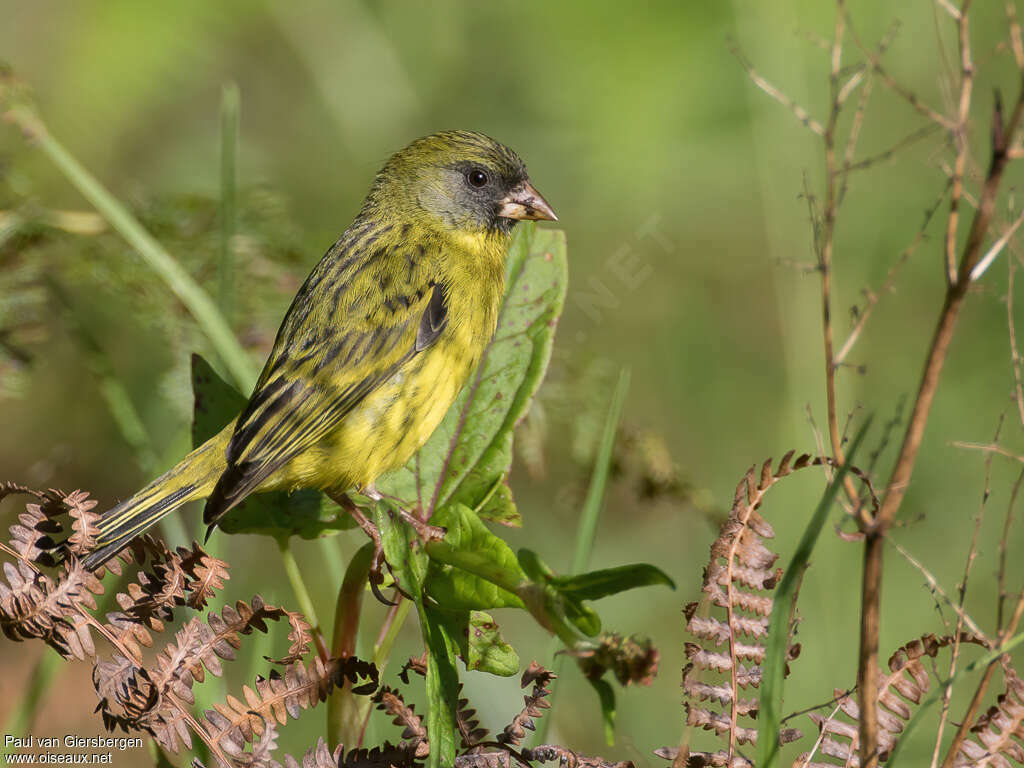
{"label": "narrow upright green leaf at bottom edge, below the bird's feet", "polygon": [[427,648],[427,738],[430,768],[455,764],[456,713],[459,706],[459,671],[455,666],[455,643],[444,628],[440,612],[417,602],[420,628]]}

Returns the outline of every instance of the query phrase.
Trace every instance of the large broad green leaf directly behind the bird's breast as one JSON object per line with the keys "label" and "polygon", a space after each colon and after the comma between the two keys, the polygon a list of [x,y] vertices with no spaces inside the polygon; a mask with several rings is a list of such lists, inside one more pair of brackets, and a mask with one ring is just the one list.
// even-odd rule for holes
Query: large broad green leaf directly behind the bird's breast
{"label": "large broad green leaf directly behind the bird's breast", "polygon": [[564,233],[517,227],[506,273],[498,330],[473,378],[409,464],[377,482],[409,507],[432,514],[461,503],[479,507],[486,519],[520,524],[501,481],[512,462],[513,428],[544,378],[565,302]]}

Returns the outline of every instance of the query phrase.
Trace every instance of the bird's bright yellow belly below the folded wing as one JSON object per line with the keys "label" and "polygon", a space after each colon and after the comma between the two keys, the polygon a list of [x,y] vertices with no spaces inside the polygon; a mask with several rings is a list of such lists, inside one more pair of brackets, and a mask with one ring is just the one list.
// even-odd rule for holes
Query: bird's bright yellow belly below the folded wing
{"label": "bird's bright yellow belly below the folded wing", "polygon": [[442,338],[417,354],[264,487],[345,490],[403,465],[433,434],[469,378],[477,355],[466,349]]}

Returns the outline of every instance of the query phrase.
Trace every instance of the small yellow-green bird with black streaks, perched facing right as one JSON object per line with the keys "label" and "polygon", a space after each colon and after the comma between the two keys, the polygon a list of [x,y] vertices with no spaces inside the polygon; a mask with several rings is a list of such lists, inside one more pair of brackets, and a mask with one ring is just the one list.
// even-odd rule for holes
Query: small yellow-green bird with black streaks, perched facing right
{"label": "small yellow-green bird with black streaks, perched facing right", "polygon": [[373,494],[479,362],[518,219],[556,216],[504,144],[445,131],[396,153],[296,294],[245,410],[105,512],[86,566],[193,500],[213,525],[257,490]]}

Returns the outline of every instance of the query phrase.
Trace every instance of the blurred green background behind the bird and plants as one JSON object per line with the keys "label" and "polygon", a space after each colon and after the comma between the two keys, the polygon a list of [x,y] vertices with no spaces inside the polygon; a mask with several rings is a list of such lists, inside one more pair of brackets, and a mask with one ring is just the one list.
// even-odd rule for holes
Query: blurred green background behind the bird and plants
{"label": "blurred green background behind the bird and plants", "polygon": [[[989,5],[979,7],[972,30],[979,73],[971,139],[982,165],[992,89],[1000,86],[1012,98],[1018,82],[1012,57],[996,49],[1006,17]],[[923,99],[948,109],[955,40],[936,7],[873,0],[856,4],[854,20],[868,44],[899,20],[890,70]],[[567,232],[570,286],[542,397],[545,418],[526,422],[528,450],[520,454],[530,461],[513,470],[525,522],[509,540],[528,544],[555,567],[568,566],[593,442],[622,367],[633,372],[629,431],[655,447],[664,441],[684,490],[694,492],[650,500],[629,471],[612,486],[593,563],[653,562],[679,589],[630,593],[599,607],[608,629],[654,640],[660,672],[650,688],[620,690],[617,743],[609,749],[592,692],[567,668],[549,737],[639,763],[654,760],[653,748],[677,743],[686,639],[680,611],[698,597],[714,512],[728,508],[751,464],[790,447],[814,452],[808,410],[824,424],[819,282],[806,268],[813,254],[802,197],[805,177],[820,195],[820,142],[749,81],[729,48],[738,44],[759,72],[824,120],[828,61],[816,40],[831,35],[831,5],[0,0],[0,58],[32,86],[53,134],[211,291],[219,101],[225,83],[238,84],[236,328],[258,360],[292,293],[350,221],[390,153],[413,137],[459,127],[484,131],[521,154]],[[859,60],[851,43],[844,62]],[[858,157],[921,125],[876,82]],[[951,162],[950,153],[936,133],[852,177],[835,255],[839,341],[852,326],[850,308],[865,288],[882,284],[943,189],[942,162]],[[974,173],[971,190],[978,188]],[[1009,185],[1020,180],[1013,169]],[[1005,211],[1006,201],[1000,205]],[[87,206],[14,129],[0,127],[2,208],[29,215]],[[840,372],[844,421],[850,413],[855,423],[873,413],[885,422],[912,398],[944,290],[945,210],[944,203],[896,290],[882,298],[850,355],[853,367]],[[49,231],[0,259],[9,296],[27,283],[56,282],[63,292],[55,299],[40,289],[24,305],[6,305],[4,324],[25,327],[5,343],[16,341],[31,361],[7,354],[2,364],[0,479],[83,487],[101,505],[127,497],[183,454],[188,353],[209,349],[114,234]],[[969,298],[903,505],[906,524],[892,536],[949,591],[961,578],[984,487],[984,456],[950,442],[990,440],[1006,412],[1002,442],[1024,451],[1010,399],[1007,263],[1000,257]],[[97,371],[123,383],[152,454],[126,441]],[[877,424],[874,445],[880,431]],[[654,453],[651,462],[664,464]],[[879,459],[879,482],[893,453],[890,444]],[[991,467],[968,590],[969,607],[986,628],[994,621],[999,530],[1017,471],[1010,460]],[[783,563],[821,486],[821,475],[808,471],[766,503]],[[10,519],[15,511],[8,502],[2,513]],[[191,510],[189,530],[199,529],[198,517]],[[328,620],[335,569],[327,560],[361,543],[355,534],[342,540],[337,548],[296,546],[308,575],[322,581],[313,597]],[[1010,551],[1021,542],[1014,532]],[[271,542],[221,537],[219,546],[233,566],[228,599],[258,591],[294,605]],[[786,690],[787,711],[825,700],[834,686],[855,678],[860,557],[857,545],[831,535],[818,546],[801,594],[803,655]],[[1022,569],[1011,567],[1016,590]],[[943,616],[923,582],[890,550],[884,656],[941,630]],[[368,621],[376,621],[379,606],[368,610]],[[528,620],[506,614],[503,629],[524,663],[550,663],[549,640]],[[260,642],[248,645],[268,652]],[[413,623],[401,643],[396,659],[416,650]],[[0,722],[40,652],[3,646]],[[232,686],[259,669],[251,658],[258,655],[227,666]],[[518,709],[515,681],[469,675],[465,682],[484,724],[501,727]],[[89,668],[68,665],[34,732],[95,732]],[[377,732],[396,737],[381,720]],[[798,725],[813,731],[806,719]],[[284,730],[282,744],[300,751],[322,729],[323,713],[306,714]],[[930,738],[919,734],[920,752],[908,758],[930,756]],[[695,739],[715,743],[706,734]],[[127,759],[148,760],[142,752]]]}

